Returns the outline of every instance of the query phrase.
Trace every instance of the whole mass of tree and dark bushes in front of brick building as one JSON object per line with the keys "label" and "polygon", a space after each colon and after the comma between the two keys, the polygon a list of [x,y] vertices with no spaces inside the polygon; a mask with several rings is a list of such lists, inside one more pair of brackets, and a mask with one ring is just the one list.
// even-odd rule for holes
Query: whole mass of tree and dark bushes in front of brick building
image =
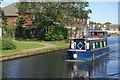
{"label": "whole mass of tree and dark bushes in front of brick building", "polygon": [[90,9],[85,9],[88,6],[88,2],[19,2],[17,5],[19,14],[30,13],[29,18],[33,27],[23,28],[25,20],[21,17],[17,21],[16,36],[22,39],[52,41],[68,39],[68,30],[61,27],[61,24],[74,25],[74,17],[87,20],[88,14],[92,13]]}

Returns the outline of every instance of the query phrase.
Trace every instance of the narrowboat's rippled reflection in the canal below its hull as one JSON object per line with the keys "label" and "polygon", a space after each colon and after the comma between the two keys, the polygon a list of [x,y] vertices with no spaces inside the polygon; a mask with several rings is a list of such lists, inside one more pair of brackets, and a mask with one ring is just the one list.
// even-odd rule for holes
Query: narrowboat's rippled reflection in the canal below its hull
{"label": "narrowboat's rippled reflection in the canal below its hull", "polygon": [[107,75],[108,57],[109,54],[90,62],[68,62],[68,67],[72,69],[69,74],[70,78],[104,77]]}

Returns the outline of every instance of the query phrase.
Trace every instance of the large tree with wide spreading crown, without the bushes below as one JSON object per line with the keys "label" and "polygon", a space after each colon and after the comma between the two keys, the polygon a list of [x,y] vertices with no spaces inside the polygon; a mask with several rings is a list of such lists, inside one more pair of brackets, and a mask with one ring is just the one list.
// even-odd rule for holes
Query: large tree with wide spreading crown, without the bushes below
{"label": "large tree with wide spreading crown, without the bushes below", "polygon": [[29,14],[37,39],[43,40],[45,34],[54,26],[70,23],[72,27],[75,24],[74,16],[82,20],[88,18],[88,14],[91,12],[91,10],[85,10],[88,2],[80,2],[79,4],[82,6],[78,7],[75,7],[75,4],[75,2],[19,2],[17,7],[19,14]]}

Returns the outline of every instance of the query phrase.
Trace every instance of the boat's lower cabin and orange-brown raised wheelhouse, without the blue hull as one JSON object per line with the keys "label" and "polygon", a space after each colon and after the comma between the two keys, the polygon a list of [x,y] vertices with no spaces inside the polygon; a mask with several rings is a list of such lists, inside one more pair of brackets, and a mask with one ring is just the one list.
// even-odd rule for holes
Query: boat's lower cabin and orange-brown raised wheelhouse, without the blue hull
{"label": "boat's lower cabin and orange-brown raised wheelhouse, without the blue hull", "polygon": [[89,31],[89,36],[83,39],[72,39],[69,49],[95,50],[107,46],[107,31]]}

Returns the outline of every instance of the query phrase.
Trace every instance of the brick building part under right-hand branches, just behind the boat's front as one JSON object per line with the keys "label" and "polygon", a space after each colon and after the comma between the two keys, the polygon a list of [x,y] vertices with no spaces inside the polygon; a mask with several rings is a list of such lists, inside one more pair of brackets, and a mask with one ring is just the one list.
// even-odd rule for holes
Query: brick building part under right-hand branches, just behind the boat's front
{"label": "brick building part under right-hand branches, just behind the boat's front", "polygon": [[68,28],[70,38],[80,38],[82,35],[86,35],[86,20],[82,21],[78,18],[74,18],[74,21],[74,25],[70,25],[69,23],[65,24],[65,27]]}

